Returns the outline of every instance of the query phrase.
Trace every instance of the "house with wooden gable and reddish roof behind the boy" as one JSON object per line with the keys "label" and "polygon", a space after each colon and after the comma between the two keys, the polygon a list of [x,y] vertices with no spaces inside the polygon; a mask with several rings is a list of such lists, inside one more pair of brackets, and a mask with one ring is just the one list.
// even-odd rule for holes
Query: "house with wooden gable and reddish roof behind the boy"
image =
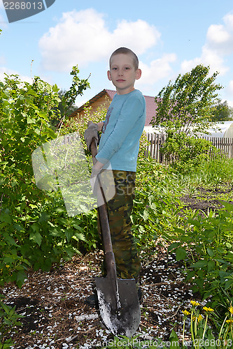
{"label": "house with wooden gable and reddish roof behind the boy", "polygon": [[[113,100],[113,96],[116,94],[116,91],[113,91],[111,89],[103,89],[99,94],[96,96],[92,97],[89,101],[89,105],[92,106],[92,111],[95,112],[97,108],[100,105],[103,105],[104,103],[106,104],[106,107],[108,107]],[[153,128],[150,125],[150,121],[155,115],[155,110],[156,110],[156,103],[155,103],[155,97],[151,96],[144,96],[146,100],[146,123],[144,127],[144,131],[146,132],[153,132]],[[85,105],[81,105],[75,112],[73,112],[70,117],[79,118],[82,117],[82,115],[85,112],[84,109]]]}

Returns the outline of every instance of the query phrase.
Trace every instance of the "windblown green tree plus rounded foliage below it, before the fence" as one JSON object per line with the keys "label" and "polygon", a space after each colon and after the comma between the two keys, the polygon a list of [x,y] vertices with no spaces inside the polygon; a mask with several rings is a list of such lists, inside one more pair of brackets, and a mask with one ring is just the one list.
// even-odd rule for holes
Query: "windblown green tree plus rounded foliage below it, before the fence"
{"label": "windblown green tree plus rounded foliage below it, before the fence", "polygon": [[150,124],[167,134],[162,151],[178,170],[199,166],[212,147],[209,141],[190,137],[213,126],[212,105],[223,87],[215,83],[218,72],[209,76],[209,70],[200,64],[190,73],[178,75],[174,84],[170,81],[155,97],[157,110]]}

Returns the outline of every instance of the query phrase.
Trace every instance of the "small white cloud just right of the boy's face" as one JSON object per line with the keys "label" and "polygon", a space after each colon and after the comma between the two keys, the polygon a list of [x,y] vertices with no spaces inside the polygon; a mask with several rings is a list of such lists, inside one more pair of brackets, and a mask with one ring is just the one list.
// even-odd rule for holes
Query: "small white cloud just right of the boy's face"
{"label": "small white cloud just right of the boy's face", "polygon": [[158,80],[169,76],[172,73],[171,63],[176,61],[176,54],[164,54],[160,59],[150,62],[150,66],[140,62],[142,75],[139,84],[153,85]]}

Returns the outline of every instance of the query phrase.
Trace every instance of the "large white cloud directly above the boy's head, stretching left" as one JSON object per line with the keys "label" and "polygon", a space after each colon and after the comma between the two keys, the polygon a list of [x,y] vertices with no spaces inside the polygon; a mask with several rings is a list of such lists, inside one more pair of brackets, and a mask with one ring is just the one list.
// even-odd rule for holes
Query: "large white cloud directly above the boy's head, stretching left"
{"label": "large white cloud directly above the boy's head, stretching left", "polygon": [[120,46],[142,54],[159,39],[159,31],[143,20],[121,20],[111,32],[104,14],[89,8],[63,13],[59,23],[41,37],[39,48],[44,69],[70,71],[76,64],[106,60]]}

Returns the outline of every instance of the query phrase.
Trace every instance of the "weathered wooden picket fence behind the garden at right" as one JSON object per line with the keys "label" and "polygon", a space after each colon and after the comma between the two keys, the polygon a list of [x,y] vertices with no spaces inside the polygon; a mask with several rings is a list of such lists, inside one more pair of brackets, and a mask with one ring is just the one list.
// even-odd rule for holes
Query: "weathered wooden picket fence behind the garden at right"
{"label": "weathered wooden picket fence behind the garden at right", "polygon": [[[212,142],[213,146],[218,149],[218,154],[233,158],[233,138],[218,138],[218,137],[199,137]],[[158,163],[166,164],[167,161],[162,154],[162,146],[166,140],[166,135],[162,133],[147,133],[148,145],[146,147],[145,155],[150,155],[155,158]],[[211,158],[216,156],[216,152],[211,152]]]}

